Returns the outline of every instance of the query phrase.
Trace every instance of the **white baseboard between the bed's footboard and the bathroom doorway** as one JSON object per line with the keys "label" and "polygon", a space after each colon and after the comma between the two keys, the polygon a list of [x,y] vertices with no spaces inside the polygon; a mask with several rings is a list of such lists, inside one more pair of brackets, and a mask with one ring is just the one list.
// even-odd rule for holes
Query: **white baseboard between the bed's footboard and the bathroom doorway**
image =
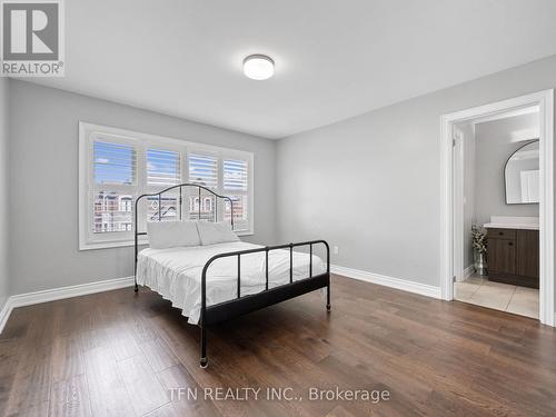
{"label": "white baseboard between the bed's footboard and the bathroom doorway", "polygon": [[427,284],[419,284],[415,281],[409,281],[407,279],[399,279],[387,277],[385,275],[367,272],[359,269],[340,267],[338,265],[330,266],[330,272],[341,275],[344,277],[359,279],[361,281],[367,281],[371,284],[377,284],[379,286],[401,289],[404,291],[419,294],[421,296],[441,298],[440,287],[429,286]]}

